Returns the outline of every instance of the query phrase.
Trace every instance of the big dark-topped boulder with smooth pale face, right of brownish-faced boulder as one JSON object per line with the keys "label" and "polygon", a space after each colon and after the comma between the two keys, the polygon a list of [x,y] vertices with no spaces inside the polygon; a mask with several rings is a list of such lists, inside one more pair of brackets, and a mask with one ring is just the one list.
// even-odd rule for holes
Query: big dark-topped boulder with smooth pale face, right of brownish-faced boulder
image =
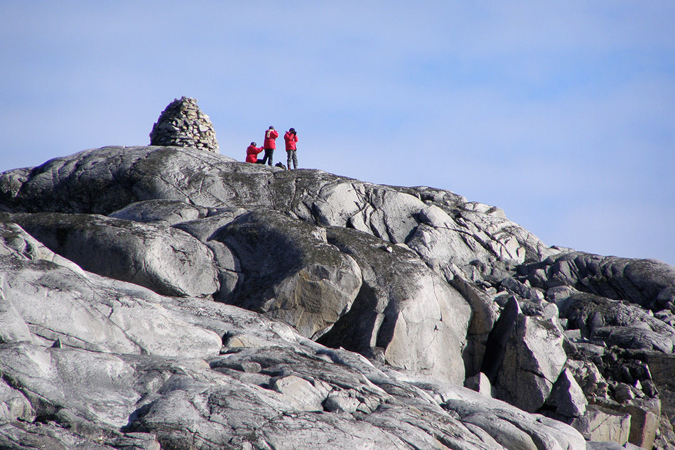
{"label": "big dark-topped boulder with smooth pale face, right of brownish-faced boulder", "polygon": [[471,311],[460,294],[409,250],[386,252],[357,230],[326,233],[360,265],[363,283],[352,309],[320,342],[365,355],[379,348],[389,364],[463,383]]}

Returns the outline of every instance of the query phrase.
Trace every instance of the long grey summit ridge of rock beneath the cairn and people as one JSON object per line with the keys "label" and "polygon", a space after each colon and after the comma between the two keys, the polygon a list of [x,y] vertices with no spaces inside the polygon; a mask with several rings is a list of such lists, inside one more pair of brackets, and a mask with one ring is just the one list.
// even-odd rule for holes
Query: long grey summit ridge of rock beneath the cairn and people
{"label": "long grey summit ridge of rock beneath the cairn and people", "polygon": [[[322,171],[289,173],[233,163],[188,147],[104,147],[48,161],[30,173],[4,174],[0,203],[16,211],[102,214],[151,199],[207,208],[274,208],[318,225],[350,226],[389,242],[405,242],[425,259],[459,257],[460,265],[473,259],[487,262],[490,257],[540,261],[559,253],[505,219],[498,208],[465,202],[448,191],[377,186]],[[432,201],[443,212],[458,208],[453,230],[446,227],[445,218],[436,217],[441,212],[428,213],[425,202]],[[433,238],[436,244],[414,238],[423,211],[427,223],[420,230],[427,227],[433,235],[440,233]],[[451,235],[444,235],[446,230]],[[454,248],[446,245],[448,239],[455,242]]]}

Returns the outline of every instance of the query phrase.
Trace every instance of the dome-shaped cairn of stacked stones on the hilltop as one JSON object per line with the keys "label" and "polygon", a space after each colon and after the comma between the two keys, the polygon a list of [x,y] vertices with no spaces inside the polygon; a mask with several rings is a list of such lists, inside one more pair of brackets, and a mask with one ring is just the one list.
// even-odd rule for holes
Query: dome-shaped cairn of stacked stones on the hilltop
{"label": "dome-shaped cairn of stacked stones on the hilltop", "polygon": [[174,99],[159,114],[150,132],[150,145],[195,147],[220,153],[211,120],[190,97]]}

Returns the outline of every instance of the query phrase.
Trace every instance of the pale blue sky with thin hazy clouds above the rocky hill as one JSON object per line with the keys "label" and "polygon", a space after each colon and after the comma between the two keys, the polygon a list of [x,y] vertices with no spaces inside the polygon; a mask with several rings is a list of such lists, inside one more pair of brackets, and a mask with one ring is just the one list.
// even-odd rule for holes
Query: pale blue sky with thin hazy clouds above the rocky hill
{"label": "pale blue sky with thin hazy clouds above the rocky hill", "polygon": [[[675,2],[0,0],[0,171],[145,145],[198,99],[222,154],[503,208],[675,265]],[[285,158],[278,151],[276,159]]]}

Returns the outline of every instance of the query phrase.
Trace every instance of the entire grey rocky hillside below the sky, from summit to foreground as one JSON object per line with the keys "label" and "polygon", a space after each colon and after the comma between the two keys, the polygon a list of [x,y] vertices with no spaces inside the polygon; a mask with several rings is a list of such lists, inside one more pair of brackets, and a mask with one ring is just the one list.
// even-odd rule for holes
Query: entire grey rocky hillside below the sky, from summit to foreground
{"label": "entire grey rocky hillside below the sky, from summit to foreground", "polygon": [[675,443],[675,268],[171,144],[0,173],[0,448]]}

